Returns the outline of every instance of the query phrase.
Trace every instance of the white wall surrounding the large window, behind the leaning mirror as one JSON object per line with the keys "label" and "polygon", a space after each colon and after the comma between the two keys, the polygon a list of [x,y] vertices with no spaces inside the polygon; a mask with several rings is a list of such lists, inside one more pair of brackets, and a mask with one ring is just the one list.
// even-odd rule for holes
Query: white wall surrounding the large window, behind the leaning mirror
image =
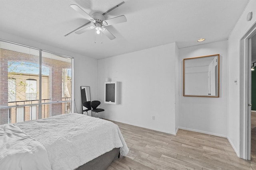
{"label": "white wall surrounding the large window, behind the leaning mirror", "polygon": [[70,51],[66,51],[64,49],[55,48],[49,45],[31,41],[4,32],[0,32],[0,39],[74,57],[74,99],[76,103],[76,107],[74,107],[74,112],[82,113],[80,86],[90,86],[91,98],[95,100],[97,99],[98,61],[96,59],[85,57],[76,53],[72,53]]}

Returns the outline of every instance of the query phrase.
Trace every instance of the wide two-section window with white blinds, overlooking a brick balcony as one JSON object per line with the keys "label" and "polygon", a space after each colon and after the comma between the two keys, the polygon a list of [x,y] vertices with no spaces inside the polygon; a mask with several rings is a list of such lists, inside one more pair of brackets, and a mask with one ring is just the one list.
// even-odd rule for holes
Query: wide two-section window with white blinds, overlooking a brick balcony
{"label": "wide two-section window with white blinds, overlooking a brick balcony", "polygon": [[72,62],[0,40],[0,124],[71,113]]}

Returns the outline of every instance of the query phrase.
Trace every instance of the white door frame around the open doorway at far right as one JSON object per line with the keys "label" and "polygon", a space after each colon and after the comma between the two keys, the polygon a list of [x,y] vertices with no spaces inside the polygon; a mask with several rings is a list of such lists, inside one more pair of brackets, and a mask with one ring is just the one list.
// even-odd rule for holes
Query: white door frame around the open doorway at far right
{"label": "white door frame around the open doorway at far right", "polygon": [[251,154],[251,91],[252,91],[252,44],[251,38],[256,34],[256,23],[240,39],[240,143],[239,157],[250,160]]}

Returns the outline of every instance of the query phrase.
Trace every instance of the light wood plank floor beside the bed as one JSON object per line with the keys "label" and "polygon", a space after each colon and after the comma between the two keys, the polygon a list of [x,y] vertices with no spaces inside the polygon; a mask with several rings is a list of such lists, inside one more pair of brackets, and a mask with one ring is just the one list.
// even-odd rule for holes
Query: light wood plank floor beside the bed
{"label": "light wood plank floor beside the bed", "polygon": [[114,123],[130,151],[126,157],[112,162],[107,170],[256,170],[256,156],[251,161],[238,158],[223,137],[181,129],[175,136]]}

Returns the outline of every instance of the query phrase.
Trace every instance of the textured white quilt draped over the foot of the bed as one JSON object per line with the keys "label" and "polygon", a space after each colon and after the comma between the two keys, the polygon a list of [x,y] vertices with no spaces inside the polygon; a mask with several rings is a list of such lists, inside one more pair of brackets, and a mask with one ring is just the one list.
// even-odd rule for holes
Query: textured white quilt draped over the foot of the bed
{"label": "textured white quilt draped over the foot of the bed", "polygon": [[118,126],[110,121],[70,113],[16,123],[48,152],[53,170],[73,170],[114,149],[126,156],[128,147]]}

